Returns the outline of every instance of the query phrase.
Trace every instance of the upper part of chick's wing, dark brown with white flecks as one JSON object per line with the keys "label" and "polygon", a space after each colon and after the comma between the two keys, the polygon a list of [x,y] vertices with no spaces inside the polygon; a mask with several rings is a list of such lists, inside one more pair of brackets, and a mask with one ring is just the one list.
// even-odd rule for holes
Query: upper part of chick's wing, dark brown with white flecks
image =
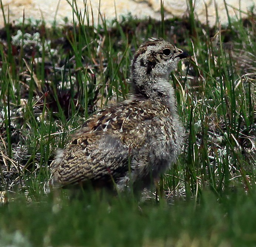
{"label": "upper part of chick's wing, dark brown with white flecks", "polygon": [[[161,109],[160,109],[161,110]],[[159,115],[151,100],[129,100],[110,106],[88,119],[71,142],[82,142],[88,132],[119,137],[122,144],[139,148],[144,144],[152,119]]]}

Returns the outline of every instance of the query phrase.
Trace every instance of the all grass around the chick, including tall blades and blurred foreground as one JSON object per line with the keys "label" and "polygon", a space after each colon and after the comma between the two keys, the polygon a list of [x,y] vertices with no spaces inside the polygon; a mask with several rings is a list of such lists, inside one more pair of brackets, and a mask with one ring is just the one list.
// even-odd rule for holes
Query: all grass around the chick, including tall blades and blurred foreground
{"label": "all grass around the chick, including tall blades and blurred foreground", "polygon": [[[24,20],[0,30],[0,187],[9,201],[0,246],[255,246],[253,10],[210,28],[193,11],[164,20],[161,2],[161,21],[99,16],[89,27],[70,4],[74,26]],[[43,193],[54,151],[86,117],[127,98],[130,60],[151,36],[192,55],[171,76],[186,144],[160,181],[163,198],[89,191],[69,201],[64,191],[56,207]]]}

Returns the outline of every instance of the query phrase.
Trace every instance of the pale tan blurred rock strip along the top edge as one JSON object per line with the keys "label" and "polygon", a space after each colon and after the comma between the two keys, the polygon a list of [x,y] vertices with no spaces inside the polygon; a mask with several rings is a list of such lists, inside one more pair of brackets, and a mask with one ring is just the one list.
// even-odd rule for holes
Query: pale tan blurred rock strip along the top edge
{"label": "pale tan blurred rock strip along the top edge", "polygon": [[[182,17],[186,15],[188,9],[187,0],[165,0],[164,11],[165,19],[174,16]],[[255,6],[255,0],[194,0],[194,10],[198,20],[205,23],[208,16],[210,26],[216,24],[216,11],[218,11],[219,21],[222,24],[227,23],[226,6],[229,8],[228,13],[231,18],[243,17],[247,11]],[[64,22],[72,22],[72,7],[67,0],[2,0],[4,12],[9,11],[9,21],[21,21],[23,9],[25,18],[38,20],[43,18],[48,25],[54,21],[61,25]],[[72,4],[72,0],[70,0]],[[85,4],[86,3],[86,4]],[[131,14],[134,17],[151,17],[157,20],[161,19],[160,0],[77,0],[76,5],[83,13],[86,10],[89,13],[94,24],[98,22],[98,13],[111,20],[117,17]],[[244,13],[238,13],[240,9]],[[93,15],[91,14],[93,13]],[[3,27],[2,13],[0,13],[0,27]]]}

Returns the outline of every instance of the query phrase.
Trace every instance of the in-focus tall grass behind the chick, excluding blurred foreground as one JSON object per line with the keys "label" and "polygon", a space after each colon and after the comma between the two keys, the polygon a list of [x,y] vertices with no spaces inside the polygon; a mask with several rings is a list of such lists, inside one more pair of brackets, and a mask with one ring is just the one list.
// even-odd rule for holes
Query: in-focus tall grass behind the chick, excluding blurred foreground
{"label": "in-focus tall grass behind the chick, excluding blurred foreground", "polygon": [[[38,168],[35,174],[42,177],[37,181],[46,179],[55,148],[63,147],[67,135],[89,114],[109,100],[127,98],[130,60],[143,39],[169,36],[163,2],[162,21],[144,21],[139,30],[136,25],[141,20],[131,17],[107,24],[99,16],[102,24],[90,27],[88,10],[81,13],[75,1],[70,5],[74,13],[72,27],[47,29],[42,22],[36,28],[25,26],[23,20],[16,28],[21,30],[17,37],[11,25],[5,23],[6,42],[0,46],[3,148],[9,157],[8,170],[11,160],[18,161],[17,156],[13,157],[17,152],[13,145],[25,146],[29,158],[24,158],[20,170],[25,175]],[[189,32],[186,26],[182,32],[177,28],[175,35],[182,39],[177,45],[192,55],[189,67],[172,75],[187,142],[179,165],[170,172],[185,182],[182,187],[188,197],[201,193],[204,185],[219,195],[231,186],[233,177],[237,177],[238,184],[252,186],[246,175],[253,179],[253,170],[248,167],[255,162],[254,154],[248,158],[244,153],[254,152],[253,136],[248,137],[252,141],[248,147],[240,142],[246,136],[243,131],[252,130],[255,124],[255,83],[250,76],[253,73],[248,73],[253,70],[250,66],[255,66],[255,27],[250,22],[245,28],[238,20],[229,29],[209,28],[195,20],[192,1],[190,8],[187,20],[168,21],[169,27],[179,24],[180,29],[189,21]],[[248,21],[252,17],[249,14]],[[27,35],[26,30],[33,35]],[[62,33],[64,42],[55,45],[54,40]],[[134,33],[139,35],[136,39]],[[223,42],[225,39],[232,42]],[[32,51],[25,51],[29,47]],[[242,61],[243,68],[236,66],[239,52],[252,56]],[[50,65],[46,67],[46,63]],[[20,131],[15,144],[13,128]]]}

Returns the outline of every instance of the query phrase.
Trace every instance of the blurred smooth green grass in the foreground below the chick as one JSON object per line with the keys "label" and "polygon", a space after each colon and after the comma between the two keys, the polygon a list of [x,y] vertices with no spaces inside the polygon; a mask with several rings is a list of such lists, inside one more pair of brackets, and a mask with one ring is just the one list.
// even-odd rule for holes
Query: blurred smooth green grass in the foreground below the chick
{"label": "blurred smooth green grass in the foreground below the chick", "polygon": [[243,191],[222,202],[205,191],[196,207],[180,200],[139,208],[125,198],[122,203],[112,198],[110,205],[96,195],[84,201],[63,198],[62,207],[54,208],[49,198],[41,199],[0,208],[2,243],[13,244],[19,233],[20,243],[31,246],[255,246],[255,218],[248,214],[255,214],[256,198]]}

